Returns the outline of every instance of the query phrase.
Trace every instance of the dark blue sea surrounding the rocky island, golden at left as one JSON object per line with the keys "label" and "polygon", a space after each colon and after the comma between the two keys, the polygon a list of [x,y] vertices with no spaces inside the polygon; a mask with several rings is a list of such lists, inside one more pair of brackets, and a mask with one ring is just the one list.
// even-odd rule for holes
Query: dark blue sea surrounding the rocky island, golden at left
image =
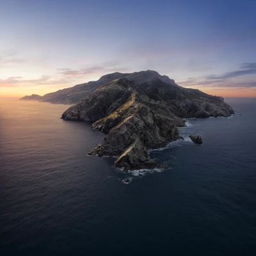
{"label": "dark blue sea surrounding the rocky island, golden at left", "polygon": [[169,170],[122,173],[67,106],[1,99],[0,255],[255,255],[256,99],[226,101],[150,153]]}

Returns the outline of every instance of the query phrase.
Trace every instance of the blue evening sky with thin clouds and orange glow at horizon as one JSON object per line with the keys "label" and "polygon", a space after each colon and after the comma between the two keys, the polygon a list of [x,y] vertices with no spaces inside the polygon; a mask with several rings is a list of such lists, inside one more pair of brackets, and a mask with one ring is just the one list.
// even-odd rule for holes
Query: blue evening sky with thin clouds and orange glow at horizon
{"label": "blue evening sky with thin clouds and orange glow at horizon", "polygon": [[0,0],[0,97],[148,69],[256,97],[255,10],[255,0]]}

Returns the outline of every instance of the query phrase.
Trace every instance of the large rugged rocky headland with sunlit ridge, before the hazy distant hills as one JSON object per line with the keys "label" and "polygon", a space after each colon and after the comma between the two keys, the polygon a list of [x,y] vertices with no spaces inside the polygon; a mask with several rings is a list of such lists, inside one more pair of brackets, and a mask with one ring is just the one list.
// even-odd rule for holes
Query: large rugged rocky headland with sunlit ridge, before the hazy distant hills
{"label": "large rugged rocky headland with sunlit ridge, before the hazy distant hills", "polygon": [[156,71],[114,73],[100,80],[104,83],[61,118],[92,122],[93,129],[106,133],[90,154],[117,157],[115,166],[123,170],[168,168],[147,150],[181,139],[177,127],[185,126],[184,118],[234,114],[222,97],[183,88]]}

